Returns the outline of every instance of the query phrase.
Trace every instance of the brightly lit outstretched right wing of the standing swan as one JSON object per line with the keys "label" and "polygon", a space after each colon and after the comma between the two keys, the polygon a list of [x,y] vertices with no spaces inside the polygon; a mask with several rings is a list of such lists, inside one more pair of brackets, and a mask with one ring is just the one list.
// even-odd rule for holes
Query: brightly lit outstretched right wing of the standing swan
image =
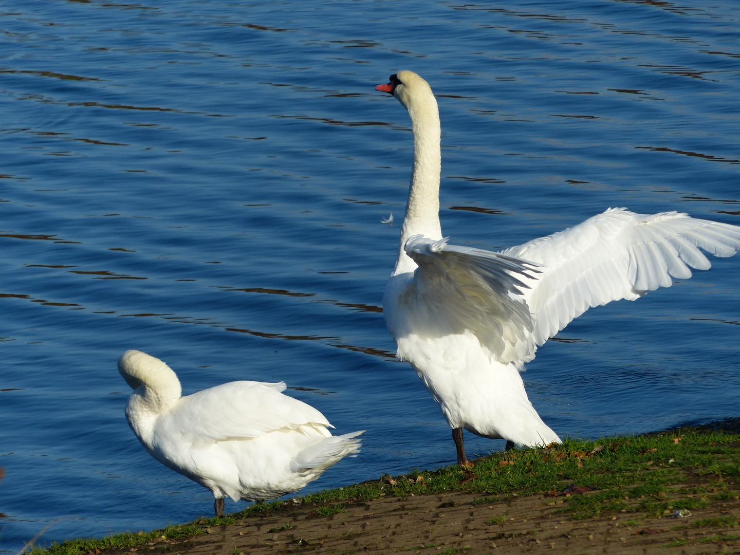
{"label": "brightly lit outstretched right wing of the standing swan", "polygon": [[740,227],[679,212],[644,215],[615,208],[504,254],[544,266],[524,292],[536,343],[542,345],[591,306],[670,287],[671,277],[691,277],[689,266],[709,269],[699,249],[734,255]]}

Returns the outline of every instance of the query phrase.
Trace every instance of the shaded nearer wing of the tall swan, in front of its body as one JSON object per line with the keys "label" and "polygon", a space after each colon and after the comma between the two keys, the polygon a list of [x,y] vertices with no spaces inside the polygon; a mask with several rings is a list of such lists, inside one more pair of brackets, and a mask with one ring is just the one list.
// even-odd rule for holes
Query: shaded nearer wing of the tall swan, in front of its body
{"label": "shaded nearer wing of the tall swan, in front of its body", "polygon": [[525,280],[536,280],[537,264],[423,235],[409,238],[404,249],[419,266],[400,295],[415,334],[443,337],[469,330],[502,362],[534,349],[521,293],[529,287]]}

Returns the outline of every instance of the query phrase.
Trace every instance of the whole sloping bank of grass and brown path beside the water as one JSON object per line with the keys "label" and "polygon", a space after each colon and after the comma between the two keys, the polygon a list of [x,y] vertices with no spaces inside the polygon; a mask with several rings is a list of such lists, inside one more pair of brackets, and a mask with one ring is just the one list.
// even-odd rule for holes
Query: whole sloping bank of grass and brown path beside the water
{"label": "whole sloping bank of grass and brown path beside the water", "polygon": [[565,440],[32,555],[740,553],[739,431]]}

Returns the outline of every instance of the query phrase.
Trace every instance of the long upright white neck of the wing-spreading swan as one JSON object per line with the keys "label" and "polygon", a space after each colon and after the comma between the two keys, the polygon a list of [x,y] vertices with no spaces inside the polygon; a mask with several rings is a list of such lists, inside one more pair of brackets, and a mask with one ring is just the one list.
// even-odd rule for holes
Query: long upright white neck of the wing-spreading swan
{"label": "long upright white neck of the wing-spreading swan", "polygon": [[[421,234],[430,239],[441,239],[440,226],[440,112],[437,100],[426,88],[408,99],[408,115],[414,132],[414,165],[411,169],[411,184],[408,187],[406,217],[403,218],[398,260],[394,274],[413,271],[416,264],[403,250],[406,240]],[[411,266],[409,266],[411,265]]]}

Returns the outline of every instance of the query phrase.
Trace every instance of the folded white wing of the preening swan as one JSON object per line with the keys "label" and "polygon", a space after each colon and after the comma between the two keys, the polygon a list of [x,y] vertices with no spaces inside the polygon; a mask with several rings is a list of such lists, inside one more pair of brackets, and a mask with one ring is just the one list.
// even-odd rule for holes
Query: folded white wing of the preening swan
{"label": "folded white wing of the preening swan", "polygon": [[[192,436],[194,443],[243,440],[291,429],[307,435],[331,435],[323,414],[303,401],[283,395],[285,383],[224,383],[187,397],[167,411],[166,425]],[[164,423],[163,423],[164,424]]]}

